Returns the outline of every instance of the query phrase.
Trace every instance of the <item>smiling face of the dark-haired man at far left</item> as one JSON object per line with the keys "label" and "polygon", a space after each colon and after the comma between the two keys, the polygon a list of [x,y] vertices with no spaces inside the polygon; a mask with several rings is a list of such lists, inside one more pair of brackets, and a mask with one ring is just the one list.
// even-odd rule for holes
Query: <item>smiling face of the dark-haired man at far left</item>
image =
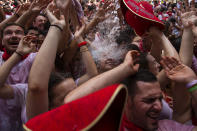
{"label": "smiling face of the dark-haired man at far left", "polygon": [[23,36],[24,30],[20,26],[8,26],[3,31],[2,44],[9,53],[13,53]]}

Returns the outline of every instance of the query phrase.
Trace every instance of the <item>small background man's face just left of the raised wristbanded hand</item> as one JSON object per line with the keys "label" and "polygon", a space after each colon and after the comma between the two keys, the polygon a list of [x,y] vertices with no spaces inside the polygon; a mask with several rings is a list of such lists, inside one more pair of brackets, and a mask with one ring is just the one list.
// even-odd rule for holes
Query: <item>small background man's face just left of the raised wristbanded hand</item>
{"label": "small background man's face just left of the raised wristbanded hand", "polygon": [[39,15],[39,16],[36,17],[33,25],[34,25],[34,27],[37,27],[39,30],[43,31],[44,30],[44,25],[45,25],[46,22],[47,22],[47,18],[44,17],[44,16]]}

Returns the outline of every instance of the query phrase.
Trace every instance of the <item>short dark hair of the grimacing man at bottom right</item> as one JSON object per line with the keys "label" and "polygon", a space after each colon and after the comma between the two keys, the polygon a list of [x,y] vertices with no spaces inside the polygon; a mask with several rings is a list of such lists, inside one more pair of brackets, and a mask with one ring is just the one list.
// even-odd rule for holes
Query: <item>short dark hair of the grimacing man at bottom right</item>
{"label": "short dark hair of the grimacing man at bottom right", "polygon": [[133,99],[137,92],[137,82],[156,82],[157,77],[148,70],[138,71],[135,75],[127,77],[123,84],[127,86],[129,96]]}

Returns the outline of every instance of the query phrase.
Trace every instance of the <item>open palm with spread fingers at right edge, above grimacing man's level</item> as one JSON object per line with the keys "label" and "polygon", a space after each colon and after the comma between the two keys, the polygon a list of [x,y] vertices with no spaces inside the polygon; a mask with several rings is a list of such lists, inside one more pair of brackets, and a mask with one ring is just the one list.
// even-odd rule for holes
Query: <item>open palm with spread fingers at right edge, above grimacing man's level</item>
{"label": "open palm with spread fingers at right edge, above grimacing man's level", "polygon": [[165,57],[162,59],[161,64],[169,79],[178,83],[189,83],[197,79],[195,73],[191,68],[183,65],[175,58]]}

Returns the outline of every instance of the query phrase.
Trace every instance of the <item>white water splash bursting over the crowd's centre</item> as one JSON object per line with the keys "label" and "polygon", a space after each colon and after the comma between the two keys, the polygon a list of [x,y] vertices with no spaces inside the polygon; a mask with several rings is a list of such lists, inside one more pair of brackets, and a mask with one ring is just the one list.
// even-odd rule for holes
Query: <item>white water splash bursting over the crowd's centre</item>
{"label": "white water splash bursting over the crowd's centre", "polygon": [[119,19],[115,16],[111,16],[98,25],[95,40],[90,46],[90,51],[98,66],[100,61],[112,59],[115,63],[120,63],[124,58],[126,47],[115,42],[115,37],[119,33]]}

